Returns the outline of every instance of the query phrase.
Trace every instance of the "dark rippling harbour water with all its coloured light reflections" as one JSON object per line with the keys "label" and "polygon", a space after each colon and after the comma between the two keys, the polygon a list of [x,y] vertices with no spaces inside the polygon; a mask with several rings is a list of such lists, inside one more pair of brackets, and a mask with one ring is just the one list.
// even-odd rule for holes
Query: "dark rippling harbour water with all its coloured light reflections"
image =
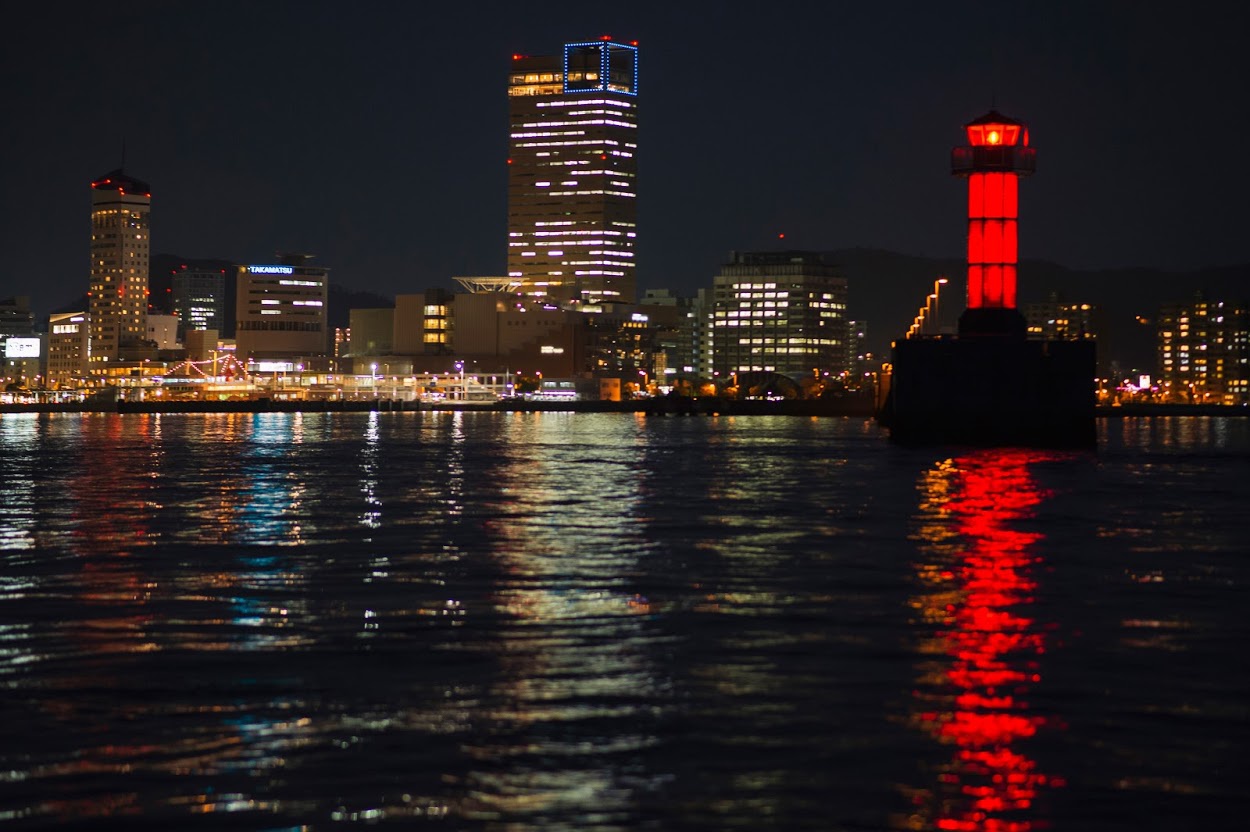
{"label": "dark rippling harbour water with all its coloured light reflections", "polygon": [[1245,828],[1250,420],[0,416],[0,826]]}

